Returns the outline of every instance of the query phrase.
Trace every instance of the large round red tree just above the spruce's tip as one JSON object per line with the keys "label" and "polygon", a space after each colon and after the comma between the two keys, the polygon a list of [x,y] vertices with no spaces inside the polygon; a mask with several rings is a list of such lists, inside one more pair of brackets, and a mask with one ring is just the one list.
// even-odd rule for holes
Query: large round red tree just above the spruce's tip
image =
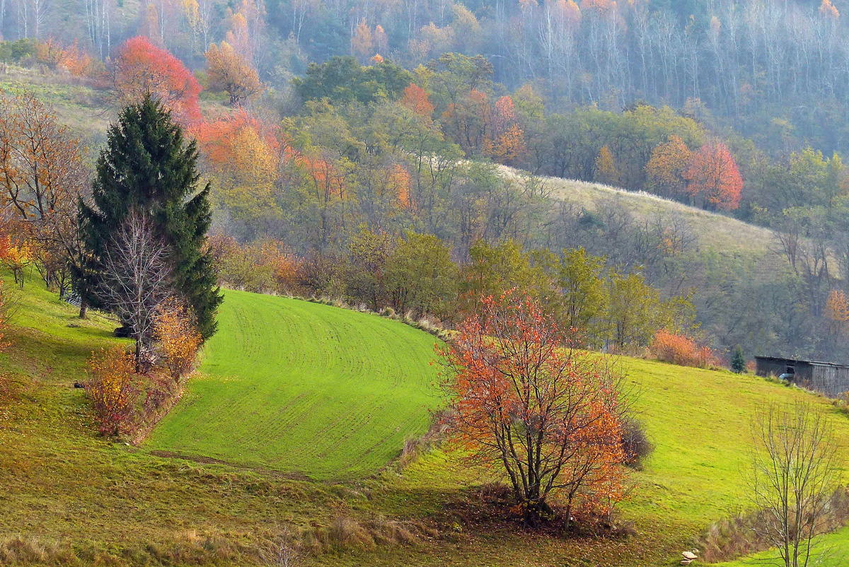
{"label": "large round red tree just above the spruce's tip", "polygon": [[200,84],[180,59],[147,37],[132,37],[118,49],[110,88],[113,101],[121,107],[138,103],[150,93],[181,121],[200,119]]}

